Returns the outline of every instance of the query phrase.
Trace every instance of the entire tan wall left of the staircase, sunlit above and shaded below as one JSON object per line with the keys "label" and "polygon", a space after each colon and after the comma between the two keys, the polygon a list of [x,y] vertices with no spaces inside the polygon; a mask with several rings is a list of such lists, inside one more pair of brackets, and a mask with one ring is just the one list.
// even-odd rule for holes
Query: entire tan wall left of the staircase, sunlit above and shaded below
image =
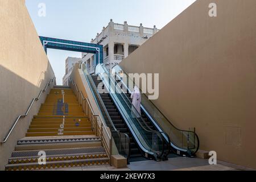
{"label": "entire tan wall left of the staircase, sunlit above and shaded below", "polygon": [[[0,139],[32,98],[54,77],[24,0],[0,0]],[[53,85],[53,84],[52,84]],[[21,119],[7,143],[0,146],[0,169],[8,162],[18,139],[23,138],[32,116],[38,113],[46,93]]]}

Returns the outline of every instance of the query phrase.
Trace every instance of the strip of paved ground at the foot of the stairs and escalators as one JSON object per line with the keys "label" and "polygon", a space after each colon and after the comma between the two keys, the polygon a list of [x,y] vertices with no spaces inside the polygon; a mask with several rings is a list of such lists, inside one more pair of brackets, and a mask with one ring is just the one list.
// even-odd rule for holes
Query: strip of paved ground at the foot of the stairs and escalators
{"label": "strip of paved ground at the foot of the stairs and escalators", "polygon": [[117,169],[109,165],[52,169],[57,171],[246,171],[250,168],[218,161],[209,165],[208,160],[199,158],[171,158],[164,162],[144,160],[130,163],[127,168]]}

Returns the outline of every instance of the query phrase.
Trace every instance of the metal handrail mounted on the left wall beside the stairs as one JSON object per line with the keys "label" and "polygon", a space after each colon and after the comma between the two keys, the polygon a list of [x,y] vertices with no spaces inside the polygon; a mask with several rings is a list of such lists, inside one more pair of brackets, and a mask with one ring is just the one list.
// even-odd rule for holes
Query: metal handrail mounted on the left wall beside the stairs
{"label": "metal handrail mounted on the left wall beside the stairs", "polygon": [[44,89],[42,89],[40,91],[38,97],[33,98],[33,100],[31,101],[30,105],[28,106],[28,109],[27,109],[26,113],[24,115],[19,115],[19,117],[16,118],[15,122],[11,126],[11,128],[8,131],[8,133],[6,134],[5,138],[2,140],[1,145],[7,142],[7,140],[9,139],[9,137],[11,135],[11,133],[13,133],[13,130],[14,130],[15,126],[17,125],[17,123],[19,122],[19,120],[21,118],[26,118],[27,117],[27,115],[28,115],[28,113],[30,113],[30,110],[31,110],[32,106],[34,105],[35,101],[38,101],[40,99],[40,97],[42,96],[42,93],[46,92],[48,86],[51,85],[51,82],[55,81],[55,83],[56,83],[55,79],[56,79],[56,77],[51,78],[51,80],[46,84]]}

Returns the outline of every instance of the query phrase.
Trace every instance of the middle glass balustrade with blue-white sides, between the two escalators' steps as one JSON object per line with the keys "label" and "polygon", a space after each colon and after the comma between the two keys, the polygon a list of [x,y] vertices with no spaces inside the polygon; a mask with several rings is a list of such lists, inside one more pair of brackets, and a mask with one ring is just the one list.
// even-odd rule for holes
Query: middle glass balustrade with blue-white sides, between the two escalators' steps
{"label": "middle glass balustrade with blue-white sides, between the two escalators' steps", "polygon": [[108,91],[119,113],[121,113],[122,118],[125,120],[142,154],[146,158],[160,160],[164,156],[166,149],[166,147],[164,147],[166,143],[163,134],[147,126],[146,121],[144,121],[141,114],[139,114],[131,104],[129,98],[122,92],[121,87],[119,87],[119,83],[115,81],[104,65],[97,65],[96,75],[98,75],[104,83],[105,89]]}

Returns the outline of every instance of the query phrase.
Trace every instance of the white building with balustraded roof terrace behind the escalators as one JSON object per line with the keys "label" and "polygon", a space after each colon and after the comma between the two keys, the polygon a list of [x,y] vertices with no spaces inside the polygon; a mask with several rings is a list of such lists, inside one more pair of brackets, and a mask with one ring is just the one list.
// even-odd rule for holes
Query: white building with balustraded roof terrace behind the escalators
{"label": "white building with balustraded roof terrace behind the escalators", "polygon": [[[146,28],[141,26],[130,26],[127,22],[124,24],[114,23],[111,19],[107,27],[103,27],[100,34],[97,34],[91,43],[101,44],[104,47],[104,64],[111,69],[119,64],[123,59],[135,51],[146,40],[151,38],[158,29]],[[92,53],[82,53],[82,61],[90,73],[94,73],[95,60]]]}

